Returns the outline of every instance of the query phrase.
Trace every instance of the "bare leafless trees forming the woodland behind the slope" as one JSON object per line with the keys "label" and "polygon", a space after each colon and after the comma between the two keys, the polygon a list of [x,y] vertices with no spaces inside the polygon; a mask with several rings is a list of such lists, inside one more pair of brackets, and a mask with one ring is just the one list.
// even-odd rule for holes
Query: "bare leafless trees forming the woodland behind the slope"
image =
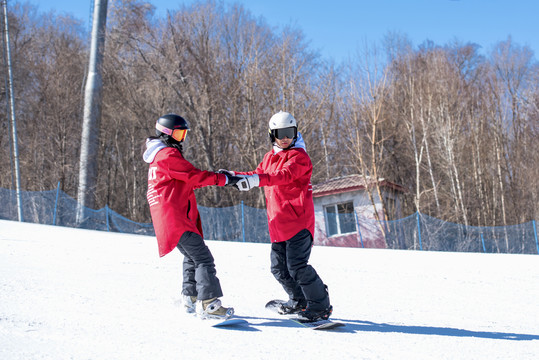
{"label": "bare leafless trees forming the woodland behind the slope", "polygon": [[[9,10],[21,186],[60,182],[76,198],[89,31],[32,5]],[[465,225],[538,218],[539,66],[511,37],[483,54],[472,43],[413,46],[388,33],[336,64],[300,29],[275,29],[241,5],[204,1],[159,17],[149,3],[118,0],[105,47],[98,208],[150,221],[141,155],[159,115],[188,120],[184,154],[199,168],[246,171],[270,148],[269,118],[285,110],[298,120],[313,184],[384,178],[408,189],[405,215]],[[6,104],[7,94],[0,84]],[[13,188],[7,106],[0,117],[0,187]],[[197,198],[264,207],[261,189],[209,187]]]}

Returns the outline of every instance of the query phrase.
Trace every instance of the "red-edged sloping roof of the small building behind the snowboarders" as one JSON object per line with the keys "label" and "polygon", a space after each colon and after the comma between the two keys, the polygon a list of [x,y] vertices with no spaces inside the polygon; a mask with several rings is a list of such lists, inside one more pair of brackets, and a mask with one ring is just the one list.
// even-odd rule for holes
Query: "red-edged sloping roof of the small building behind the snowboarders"
{"label": "red-edged sloping roof of the small building behind the snowboarders", "polygon": [[[382,187],[389,187],[397,191],[405,192],[406,190],[397,184],[379,179],[378,182]],[[340,194],[349,191],[363,190],[372,188],[376,185],[376,181],[368,176],[363,175],[348,175],[339,178],[334,178],[321,184],[313,185],[313,196],[321,197],[326,195]]]}

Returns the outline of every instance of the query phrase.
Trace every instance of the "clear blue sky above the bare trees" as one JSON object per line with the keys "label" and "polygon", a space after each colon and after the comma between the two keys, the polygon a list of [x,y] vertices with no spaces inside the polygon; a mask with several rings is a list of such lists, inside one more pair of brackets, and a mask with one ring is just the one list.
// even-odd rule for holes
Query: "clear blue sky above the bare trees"
{"label": "clear blue sky above the bare trees", "polygon": [[[39,11],[54,10],[89,22],[93,0],[28,1]],[[114,0],[109,0],[109,5]],[[158,15],[193,0],[148,0]],[[539,59],[539,0],[224,0],[240,3],[279,29],[293,25],[303,31],[311,49],[337,62],[362,49],[382,44],[388,32],[406,34],[415,46],[425,40],[445,45],[473,42],[488,54],[494,44],[511,36],[529,46]],[[89,25],[88,25],[89,26]]]}

